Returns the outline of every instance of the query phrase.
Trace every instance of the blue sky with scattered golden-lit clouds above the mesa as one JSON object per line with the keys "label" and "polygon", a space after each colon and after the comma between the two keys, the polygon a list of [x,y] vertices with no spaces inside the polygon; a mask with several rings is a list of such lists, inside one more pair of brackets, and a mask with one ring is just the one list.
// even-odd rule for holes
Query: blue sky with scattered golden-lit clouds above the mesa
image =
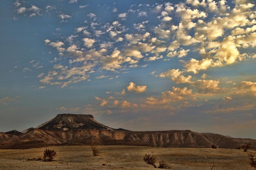
{"label": "blue sky with scattered golden-lit clouds above the mesa", "polygon": [[91,114],[256,139],[254,0],[0,0],[0,131]]}

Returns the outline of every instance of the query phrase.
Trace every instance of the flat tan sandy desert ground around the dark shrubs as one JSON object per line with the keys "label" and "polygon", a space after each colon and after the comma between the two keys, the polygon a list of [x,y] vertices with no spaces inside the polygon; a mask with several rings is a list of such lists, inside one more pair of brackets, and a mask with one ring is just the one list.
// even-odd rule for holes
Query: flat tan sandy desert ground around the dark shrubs
{"label": "flat tan sandy desert ground around the dark shrubs", "polygon": [[249,166],[247,152],[234,149],[98,146],[100,153],[93,156],[90,146],[48,148],[57,152],[55,161],[27,161],[42,157],[45,148],[0,150],[0,170],[154,170],[142,160],[146,153],[166,161],[171,170],[211,170],[213,163],[213,170],[254,170]]}

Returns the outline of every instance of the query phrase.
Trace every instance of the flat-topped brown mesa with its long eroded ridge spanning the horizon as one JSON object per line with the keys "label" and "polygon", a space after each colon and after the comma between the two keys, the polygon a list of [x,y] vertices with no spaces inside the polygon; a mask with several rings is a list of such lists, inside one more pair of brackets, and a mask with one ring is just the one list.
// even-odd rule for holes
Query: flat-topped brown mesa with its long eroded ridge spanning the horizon
{"label": "flat-topped brown mesa with its long eroded ridge spanning the horizon", "polygon": [[256,147],[254,139],[238,139],[190,130],[134,132],[100,124],[92,115],[72,114],[57,115],[37,128],[25,130],[23,134],[15,130],[0,132],[0,149],[91,144],[152,147],[211,147],[215,144],[221,148],[237,148],[245,142]]}

